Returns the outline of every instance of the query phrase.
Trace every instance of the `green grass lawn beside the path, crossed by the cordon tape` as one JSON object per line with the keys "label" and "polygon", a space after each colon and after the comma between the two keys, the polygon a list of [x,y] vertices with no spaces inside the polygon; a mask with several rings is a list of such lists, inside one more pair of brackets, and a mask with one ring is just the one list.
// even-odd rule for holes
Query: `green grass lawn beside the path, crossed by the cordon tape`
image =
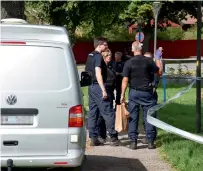
{"label": "green grass lawn beside the path, crossed by the cordon tape", "polygon": [[[174,96],[187,85],[167,85],[167,99]],[[84,103],[88,105],[87,88],[83,88],[86,96]],[[159,103],[163,102],[163,89],[158,89]],[[196,121],[196,89],[191,88],[182,97],[175,99],[158,111],[158,118],[170,125],[195,133]],[[202,105],[203,106],[203,105]],[[87,108],[86,108],[87,109]],[[202,110],[203,111],[203,110]],[[142,119],[141,119],[142,120]],[[203,123],[203,117],[202,117]],[[142,124],[140,124],[142,125]],[[159,130],[157,145],[161,156],[177,171],[203,170],[203,145],[181,138],[174,134]]]}

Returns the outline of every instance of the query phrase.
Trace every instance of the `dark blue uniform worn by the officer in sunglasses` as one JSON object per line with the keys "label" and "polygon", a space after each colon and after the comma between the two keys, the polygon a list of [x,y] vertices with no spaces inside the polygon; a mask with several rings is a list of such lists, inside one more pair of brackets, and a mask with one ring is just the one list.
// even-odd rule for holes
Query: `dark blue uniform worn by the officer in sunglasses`
{"label": "dark blue uniform worn by the officer in sunglasses", "polygon": [[[92,55],[91,55],[92,54]],[[87,59],[86,71],[92,74],[93,83],[89,86],[89,114],[88,114],[88,129],[89,136],[98,137],[96,126],[98,117],[101,116],[105,120],[107,131],[111,138],[117,138],[117,132],[115,131],[115,112],[111,106],[111,92],[106,86],[107,83],[107,66],[103,60],[103,57],[98,52],[92,52]],[[108,99],[103,99],[102,90],[97,82],[95,75],[95,67],[100,67],[102,72],[102,78],[107,91]]]}

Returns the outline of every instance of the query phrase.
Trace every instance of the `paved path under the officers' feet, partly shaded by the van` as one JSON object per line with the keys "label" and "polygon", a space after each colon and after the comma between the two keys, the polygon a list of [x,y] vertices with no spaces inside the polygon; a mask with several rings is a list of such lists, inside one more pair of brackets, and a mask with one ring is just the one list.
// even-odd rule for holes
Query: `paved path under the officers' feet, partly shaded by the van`
{"label": "paved path under the officers' feet, partly shaded by the van", "polygon": [[[138,143],[137,150],[127,148],[126,135],[119,137],[122,145],[111,147],[108,144],[87,149],[87,159],[82,171],[170,171],[170,167],[159,157],[157,149],[149,150]],[[141,136],[140,138],[143,138]]]}

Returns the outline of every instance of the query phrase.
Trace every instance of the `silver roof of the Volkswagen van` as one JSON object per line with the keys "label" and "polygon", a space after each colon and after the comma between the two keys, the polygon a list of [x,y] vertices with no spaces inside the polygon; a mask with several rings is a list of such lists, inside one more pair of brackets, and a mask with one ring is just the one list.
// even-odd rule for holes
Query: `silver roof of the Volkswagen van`
{"label": "silver roof of the Volkswagen van", "polygon": [[1,23],[0,27],[1,39],[37,40],[70,44],[68,32],[64,27],[16,23]]}

